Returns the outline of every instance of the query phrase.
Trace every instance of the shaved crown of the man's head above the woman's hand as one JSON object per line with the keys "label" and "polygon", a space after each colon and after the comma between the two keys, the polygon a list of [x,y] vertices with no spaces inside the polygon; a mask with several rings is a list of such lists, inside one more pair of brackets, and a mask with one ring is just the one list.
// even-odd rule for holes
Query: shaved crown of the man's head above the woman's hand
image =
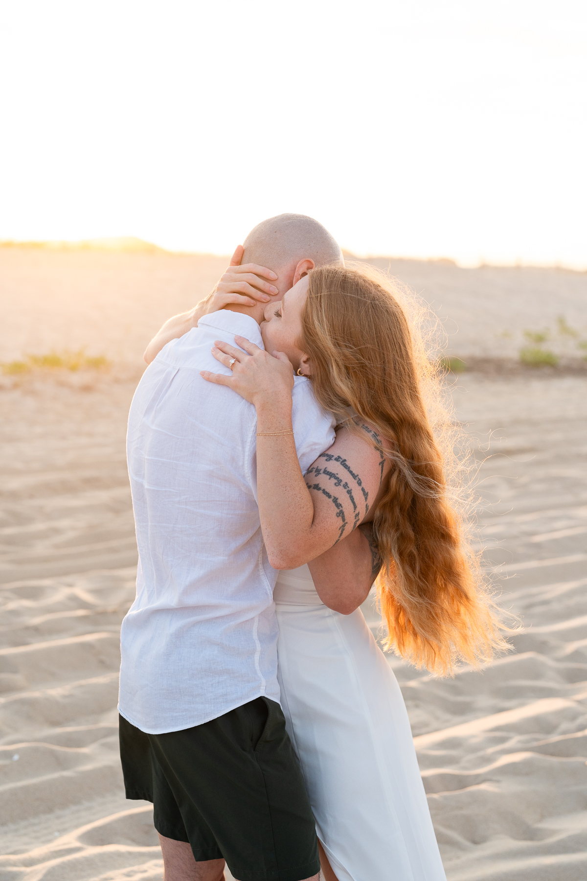
{"label": "shaved crown of the man's head above the woman's hand", "polygon": [[305,214],[278,214],[254,227],[243,242],[241,263],[258,263],[277,272],[306,258],[315,266],[342,263],[341,248],[327,229]]}

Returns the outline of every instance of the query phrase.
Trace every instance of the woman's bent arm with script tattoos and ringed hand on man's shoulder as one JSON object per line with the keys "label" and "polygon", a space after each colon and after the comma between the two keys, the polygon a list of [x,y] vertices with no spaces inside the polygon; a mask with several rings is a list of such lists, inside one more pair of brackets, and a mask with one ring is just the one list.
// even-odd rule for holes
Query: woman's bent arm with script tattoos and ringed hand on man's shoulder
{"label": "woman's bent arm with script tattoos and ringed hand on man's shoulder", "polygon": [[226,385],[257,410],[257,492],[260,525],[269,562],[294,569],[341,541],[370,513],[390,470],[381,441],[370,426],[362,436],[342,428],[333,446],[318,457],[305,477],[297,461],[291,428],[290,362],[273,358],[244,337],[217,343],[218,360],[237,359],[233,374],[202,371],[204,379]]}

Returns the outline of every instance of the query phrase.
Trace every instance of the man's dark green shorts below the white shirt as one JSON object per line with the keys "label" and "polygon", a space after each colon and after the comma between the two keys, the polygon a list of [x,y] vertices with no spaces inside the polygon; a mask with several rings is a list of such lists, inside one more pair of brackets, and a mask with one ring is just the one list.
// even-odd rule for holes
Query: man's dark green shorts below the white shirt
{"label": "man's dark green shorts below the white shirt", "polygon": [[226,860],[239,881],[302,881],[320,868],[316,827],[282,709],[257,698],[169,734],[120,717],[127,798],[154,805],[165,838]]}

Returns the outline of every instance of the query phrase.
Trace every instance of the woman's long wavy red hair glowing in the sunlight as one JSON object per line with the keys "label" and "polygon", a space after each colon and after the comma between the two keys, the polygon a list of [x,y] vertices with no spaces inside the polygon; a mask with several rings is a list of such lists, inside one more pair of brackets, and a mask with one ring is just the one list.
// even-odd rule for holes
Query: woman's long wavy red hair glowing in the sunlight
{"label": "woman's long wavy red hair glowing in the sunlight", "polygon": [[[319,403],[351,430],[368,423],[391,445],[393,469],[373,524],[384,560],[377,586],[386,648],[446,675],[458,661],[488,661],[507,643],[466,541],[442,378],[422,322],[400,305],[406,297],[370,267],[314,269],[299,347],[310,356]],[[350,422],[349,411],[357,414]]]}

